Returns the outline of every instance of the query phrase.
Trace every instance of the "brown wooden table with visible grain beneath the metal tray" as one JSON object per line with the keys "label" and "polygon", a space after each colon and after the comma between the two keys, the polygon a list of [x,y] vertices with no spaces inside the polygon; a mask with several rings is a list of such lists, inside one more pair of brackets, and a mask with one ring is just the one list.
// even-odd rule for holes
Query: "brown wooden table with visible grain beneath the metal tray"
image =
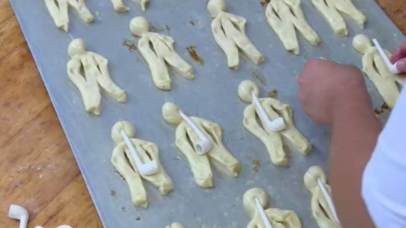
{"label": "brown wooden table with visible grain beneath the metal tray", "polygon": [[[406,1],[378,3],[406,33]],[[7,218],[10,204],[29,211],[29,227],[101,227],[7,0],[0,0],[0,48],[0,227],[17,227]]]}

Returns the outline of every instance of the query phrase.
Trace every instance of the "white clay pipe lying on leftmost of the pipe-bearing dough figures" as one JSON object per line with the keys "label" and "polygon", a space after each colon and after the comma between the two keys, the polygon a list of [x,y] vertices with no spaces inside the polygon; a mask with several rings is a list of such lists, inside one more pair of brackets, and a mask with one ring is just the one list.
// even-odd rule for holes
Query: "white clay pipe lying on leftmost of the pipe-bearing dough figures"
{"label": "white clay pipe lying on leftmost of the pipe-bearing dough figures", "polygon": [[121,129],[120,131],[121,136],[123,136],[125,144],[127,144],[128,149],[130,150],[130,154],[134,162],[136,163],[138,171],[142,175],[152,175],[158,172],[158,164],[156,161],[152,160],[147,163],[143,163],[140,159],[140,157],[137,154],[136,148],[132,145],[130,142],[130,139],[128,138],[127,134],[125,133],[124,129]]}

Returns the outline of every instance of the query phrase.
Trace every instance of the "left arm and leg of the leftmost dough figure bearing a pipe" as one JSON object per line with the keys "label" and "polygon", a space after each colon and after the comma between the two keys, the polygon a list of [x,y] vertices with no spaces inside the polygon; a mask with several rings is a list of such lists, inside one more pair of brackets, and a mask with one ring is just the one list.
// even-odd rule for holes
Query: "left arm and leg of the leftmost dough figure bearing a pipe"
{"label": "left arm and leg of the leftmost dough figure bearing a pipe", "polygon": [[147,207],[147,193],[145,192],[140,174],[136,169],[132,169],[127,162],[127,159],[130,160],[131,157],[126,157],[124,152],[125,146],[125,143],[122,142],[114,148],[111,162],[127,182],[130,188],[132,204],[139,207]]}

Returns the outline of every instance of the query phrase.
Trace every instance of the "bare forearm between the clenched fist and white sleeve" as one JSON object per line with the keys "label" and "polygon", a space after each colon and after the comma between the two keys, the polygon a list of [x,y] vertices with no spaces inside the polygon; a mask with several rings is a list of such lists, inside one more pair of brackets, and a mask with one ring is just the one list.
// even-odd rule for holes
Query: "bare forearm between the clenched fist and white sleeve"
{"label": "bare forearm between the clenched fist and white sleeve", "polygon": [[343,227],[374,227],[361,198],[361,177],[381,124],[365,90],[345,93],[334,106],[329,180]]}

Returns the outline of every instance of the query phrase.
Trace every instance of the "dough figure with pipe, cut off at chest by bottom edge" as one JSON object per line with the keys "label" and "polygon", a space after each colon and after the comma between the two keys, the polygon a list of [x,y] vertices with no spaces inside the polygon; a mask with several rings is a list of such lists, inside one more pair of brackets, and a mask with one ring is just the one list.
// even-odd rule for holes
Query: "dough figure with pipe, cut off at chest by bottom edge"
{"label": "dough figure with pipe, cut off at chest by bottom edge", "polygon": [[[244,193],[244,209],[248,212],[251,218],[247,228],[265,228],[256,207],[255,198],[258,198],[263,208],[268,205],[268,196],[261,188],[251,188]],[[301,228],[299,217],[294,211],[269,208],[265,210],[265,214],[273,228]]]}

